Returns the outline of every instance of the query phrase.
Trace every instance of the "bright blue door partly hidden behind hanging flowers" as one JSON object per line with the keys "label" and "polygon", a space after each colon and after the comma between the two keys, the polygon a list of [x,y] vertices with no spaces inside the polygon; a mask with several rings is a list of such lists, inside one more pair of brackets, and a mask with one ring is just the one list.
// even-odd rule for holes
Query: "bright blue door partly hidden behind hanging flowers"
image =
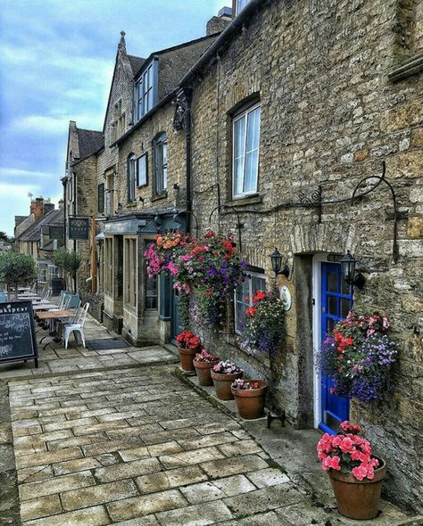
{"label": "bright blue door partly hidden behind hanging flowers", "polygon": [[[352,287],[345,283],[339,263],[321,264],[321,338],[325,340],[336,322],[344,319],[352,308]],[[349,399],[332,394],[333,382],[321,374],[321,417],[319,427],[335,434],[339,423],[348,420]]]}

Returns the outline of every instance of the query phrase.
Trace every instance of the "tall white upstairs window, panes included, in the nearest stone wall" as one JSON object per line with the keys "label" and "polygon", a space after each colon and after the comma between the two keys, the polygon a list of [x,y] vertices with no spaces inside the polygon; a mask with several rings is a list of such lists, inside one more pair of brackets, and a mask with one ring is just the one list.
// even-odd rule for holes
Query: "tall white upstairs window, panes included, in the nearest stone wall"
{"label": "tall white upstairs window, panes included, in the nearest stone wall", "polygon": [[260,106],[255,105],[233,120],[233,196],[257,192],[259,173]]}

